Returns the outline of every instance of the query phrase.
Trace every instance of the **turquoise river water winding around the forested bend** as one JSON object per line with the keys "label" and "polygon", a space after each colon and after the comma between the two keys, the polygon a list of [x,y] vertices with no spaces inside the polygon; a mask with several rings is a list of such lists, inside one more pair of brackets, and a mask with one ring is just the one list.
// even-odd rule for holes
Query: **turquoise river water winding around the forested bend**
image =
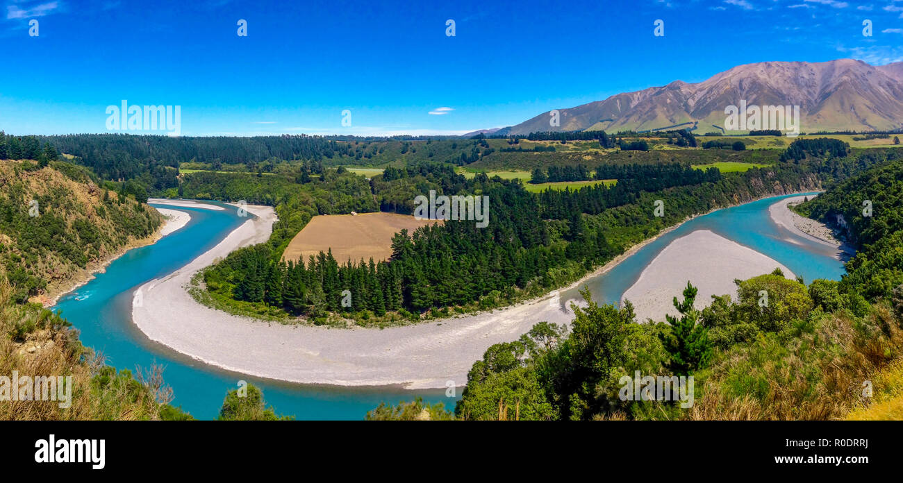
{"label": "turquoise river water winding around the forested bend", "polygon": [[[807,283],[814,278],[839,279],[843,266],[832,257],[829,249],[797,237],[771,221],[768,206],[780,198],[754,201],[694,218],[586,284],[600,302],[618,302],[621,294],[636,282],[662,248],[696,229],[709,229],[759,250],[795,274],[801,274]],[[407,391],[385,386],[348,388],[289,384],[209,367],[144,337],[131,320],[135,289],[188,264],[247,220],[237,217],[236,210],[228,205],[209,203],[226,209],[154,205],[189,211],[191,221],[156,244],[135,248],[117,258],[104,273],[61,297],[53,310],[62,311],[80,331],[82,343],[101,352],[107,358],[107,364],[133,371],[135,367],[149,367],[154,362],[163,365],[164,379],[172,385],[174,392],[172,404],[182,406],[199,419],[215,418],[226,392],[236,388],[239,380],[261,387],[267,404],[273,405],[276,413],[293,415],[297,419],[362,419],[381,402],[396,404],[417,396],[430,403],[454,406],[461,388],[455,396],[448,397],[444,389]],[[579,297],[576,290],[562,295],[562,300]]]}

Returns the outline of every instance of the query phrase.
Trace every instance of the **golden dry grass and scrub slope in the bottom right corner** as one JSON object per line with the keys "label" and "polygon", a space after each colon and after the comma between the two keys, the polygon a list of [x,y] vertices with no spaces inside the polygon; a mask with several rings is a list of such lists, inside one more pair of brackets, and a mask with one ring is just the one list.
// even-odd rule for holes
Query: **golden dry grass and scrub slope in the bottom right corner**
{"label": "golden dry grass and scrub slope in the bottom right corner", "polygon": [[[895,380],[897,389],[876,401],[876,415],[898,414],[903,402],[903,330],[889,307],[876,304],[865,320],[849,315],[825,316],[811,331],[780,345],[759,339],[726,353],[712,367],[694,420],[831,420],[865,407],[864,381]],[[881,378],[882,369],[890,371]],[[896,372],[894,367],[897,367]],[[893,379],[897,377],[897,379]],[[883,383],[876,383],[881,385]],[[864,413],[856,413],[864,415]],[[851,414],[852,415],[852,414]]]}

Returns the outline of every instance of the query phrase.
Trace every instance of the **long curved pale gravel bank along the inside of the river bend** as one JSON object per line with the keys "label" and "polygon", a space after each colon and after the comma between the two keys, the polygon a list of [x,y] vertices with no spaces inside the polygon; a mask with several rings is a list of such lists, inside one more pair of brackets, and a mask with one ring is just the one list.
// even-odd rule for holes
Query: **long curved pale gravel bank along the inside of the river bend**
{"label": "long curved pale gravel bank along the inside of the river bend", "polygon": [[[567,324],[573,319],[560,291],[501,310],[385,330],[284,325],[216,311],[196,302],[185,287],[193,274],[216,259],[269,237],[272,209],[248,207],[248,211],[260,218],[247,221],[190,264],[140,287],[142,298],[140,303],[135,298],[132,315],[148,338],[210,366],[251,376],[301,384],[426,389],[464,385],[470,367],[486,348],[519,338],[536,322]],[[684,222],[632,246],[561,290],[606,273]]]}

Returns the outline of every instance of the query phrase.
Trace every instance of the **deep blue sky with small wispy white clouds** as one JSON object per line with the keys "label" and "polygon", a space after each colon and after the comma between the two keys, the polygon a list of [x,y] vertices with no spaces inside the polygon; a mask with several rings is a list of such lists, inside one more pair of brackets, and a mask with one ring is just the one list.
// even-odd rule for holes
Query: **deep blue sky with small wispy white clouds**
{"label": "deep blue sky with small wispy white clouds", "polygon": [[462,134],[750,62],[903,60],[903,0],[0,2],[15,135],[107,132],[122,99],[181,106],[182,135]]}

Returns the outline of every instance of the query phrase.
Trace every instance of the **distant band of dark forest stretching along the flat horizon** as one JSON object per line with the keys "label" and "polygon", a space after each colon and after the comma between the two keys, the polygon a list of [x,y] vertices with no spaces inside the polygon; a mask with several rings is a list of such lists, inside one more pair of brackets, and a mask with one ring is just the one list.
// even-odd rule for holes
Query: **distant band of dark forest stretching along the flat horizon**
{"label": "distant band of dark forest stretching along the flat horizon", "polygon": [[[656,133],[666,144],[695,147],[696,138],[685,130]],[[625,140],[625,137],[642,137]],[[324,167],[341,165],[404,167],[416,163],[449,163],[466,166],[487,159],[518,167],[522,159],[542,160],[538,153],[555,153],[560,143],[593,141],[595,148],[620,148],[625,152],[651,150],[650,134],[623,134],[602,131],[574,133],[533,133],[472,139],[278,135],[236,138],[172,137],[165,135],[0,135],[0,159],[56,159],[65,153],[73,163],[91,169],[106,181],[132,181],[135,189],[150,195],[178,196],[181,170],[213,172],[294,173],[319,175]],[[526,140],[521,144],[521,140]],[[528,142],[528,143],[527,143]],[[4,156],[6,150],[8,155]],[[46,153],[45,153],[46,152]],[[549,161],[554,162],[554,158]],[[532,168],[530,168],[532,169]],[[133,193],[135,194],[135,193]]]}

